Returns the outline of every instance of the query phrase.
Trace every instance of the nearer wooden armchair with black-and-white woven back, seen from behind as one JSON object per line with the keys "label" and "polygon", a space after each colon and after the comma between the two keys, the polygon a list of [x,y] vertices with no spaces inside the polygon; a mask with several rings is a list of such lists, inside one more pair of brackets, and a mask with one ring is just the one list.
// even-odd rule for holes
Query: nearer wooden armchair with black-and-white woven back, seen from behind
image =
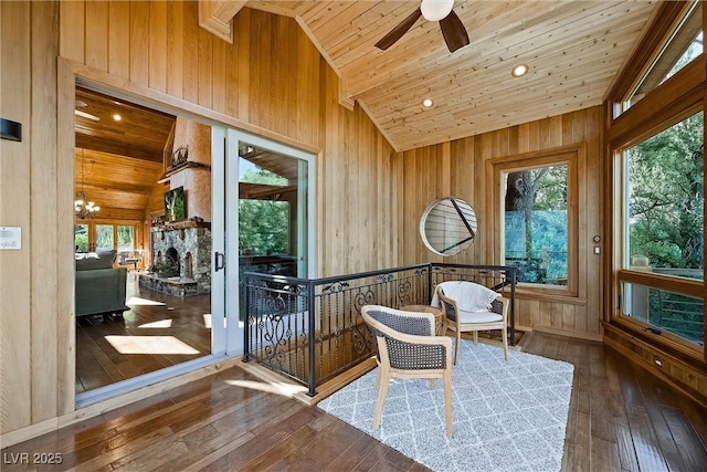
{"label": "nearer wooden armchair with black-and-white woven back, seen from behind", "polygon": [[446,436],[452,438],[452,339],[434,335],[434,315],[366,305],[363,321],[378,345],[378,405],[373,430],[380,427],[388,385],[392,377],[444,380]]}

